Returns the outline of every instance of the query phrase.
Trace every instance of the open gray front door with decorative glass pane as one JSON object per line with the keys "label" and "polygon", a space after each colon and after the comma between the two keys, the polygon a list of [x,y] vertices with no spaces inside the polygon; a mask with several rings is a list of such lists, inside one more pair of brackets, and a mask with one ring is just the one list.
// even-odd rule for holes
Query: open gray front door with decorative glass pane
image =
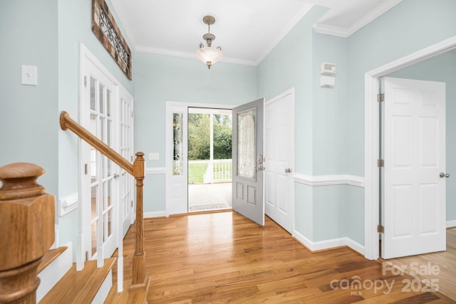
{"label": "open gray front door with decorative glass pane", "polygon": [[233,210],[264,226],[264,98],[233,109]]}

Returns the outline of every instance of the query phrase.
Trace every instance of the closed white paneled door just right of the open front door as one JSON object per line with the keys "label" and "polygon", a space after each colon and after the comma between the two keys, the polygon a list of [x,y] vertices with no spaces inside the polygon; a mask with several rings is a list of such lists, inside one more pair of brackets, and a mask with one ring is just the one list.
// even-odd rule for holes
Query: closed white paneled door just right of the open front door
{"label": "closed white paneled door just right of the open front door", "polygon": [[264,195],[266,214],[289,233],[294,230],[294,93],[266,103]]}

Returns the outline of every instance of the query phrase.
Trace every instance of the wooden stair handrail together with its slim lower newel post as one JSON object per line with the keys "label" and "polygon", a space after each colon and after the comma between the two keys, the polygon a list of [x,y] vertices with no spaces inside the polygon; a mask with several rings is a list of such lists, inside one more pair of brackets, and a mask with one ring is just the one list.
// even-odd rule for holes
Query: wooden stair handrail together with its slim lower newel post
{"label": "wooden stair handrail together with its slim lower newel post", "polygon": [[133,254],[133,278],[130,289],[147,289],[149,278],[145,274],[145,252],[144,252],[144,228],[142,214],[142,185],[144,180],[144,153],[137,152],[133,164],[128,162],[122,155],[118,154],[103,141],[95,137],[86,128],[71,119],[68,112],[62,111],[60,115],[60,125],[62,130],[71,130],[81,137],[82,140],[98,150],[101,154],[108,157],[126,172],[133,175],[136,179],[136,238],[135,253]]}

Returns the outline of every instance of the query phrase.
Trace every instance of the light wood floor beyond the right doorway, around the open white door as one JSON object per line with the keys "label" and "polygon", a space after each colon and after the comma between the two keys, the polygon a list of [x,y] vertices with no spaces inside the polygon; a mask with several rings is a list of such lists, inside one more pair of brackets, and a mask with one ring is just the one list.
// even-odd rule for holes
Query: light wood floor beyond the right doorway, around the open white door
{"label": "light wood floor beyond the right doorway, around the open white door", "polygon": [[393,263],[423,285],[433,283],[440,293],[456,300],[456,228],[447,229],[446,251],[391,258],[385,263]]}

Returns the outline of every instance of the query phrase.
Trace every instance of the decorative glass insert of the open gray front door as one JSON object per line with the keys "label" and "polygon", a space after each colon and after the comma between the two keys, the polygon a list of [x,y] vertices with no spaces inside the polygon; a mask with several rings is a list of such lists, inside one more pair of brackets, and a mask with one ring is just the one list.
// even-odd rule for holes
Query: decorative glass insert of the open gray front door
{"label": "decorative glass insert of the open gray front door", "polygon": [[256,130],[257,110],[252,109],[237,115],[237,175],[255,179],[256,177]]}

